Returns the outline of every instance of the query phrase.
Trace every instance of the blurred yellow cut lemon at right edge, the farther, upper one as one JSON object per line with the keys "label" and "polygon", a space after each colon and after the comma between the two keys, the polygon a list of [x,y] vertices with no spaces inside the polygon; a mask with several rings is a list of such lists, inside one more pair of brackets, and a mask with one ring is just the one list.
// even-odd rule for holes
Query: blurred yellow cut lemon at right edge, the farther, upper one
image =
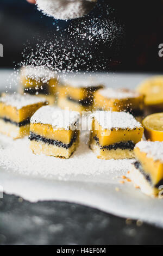
{"label": "blurred yellow cut lemon at right edge, the farther, upper one", "polygon": [[153,76],[137,87],[137,92],[145,95],[145,105],[163,109],[163,76]]}

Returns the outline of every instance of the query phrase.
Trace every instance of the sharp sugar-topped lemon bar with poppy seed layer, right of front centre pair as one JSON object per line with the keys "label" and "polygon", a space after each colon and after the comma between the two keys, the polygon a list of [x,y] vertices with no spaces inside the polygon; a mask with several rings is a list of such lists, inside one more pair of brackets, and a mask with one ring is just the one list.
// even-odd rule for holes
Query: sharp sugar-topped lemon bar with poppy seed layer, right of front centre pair
{"label": "sharp sugar-topped lemon bar with poppy seed layer, right of front centre pair", "polygon": [[133,158],[133,149],[143,135],[143,127],[126,112],[92,113],[90,148],[100,159]]}

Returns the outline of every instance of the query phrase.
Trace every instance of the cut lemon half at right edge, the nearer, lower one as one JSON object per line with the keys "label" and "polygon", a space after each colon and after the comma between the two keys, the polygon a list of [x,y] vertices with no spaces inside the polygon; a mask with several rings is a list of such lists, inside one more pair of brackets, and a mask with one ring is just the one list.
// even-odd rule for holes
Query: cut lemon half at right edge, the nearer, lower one
{"label": "cut lemon half at right edge, the nearer, lower one", "polygon": [[163,141],[163,113],[148,115],[143,119],[145,137],[151,141]]}

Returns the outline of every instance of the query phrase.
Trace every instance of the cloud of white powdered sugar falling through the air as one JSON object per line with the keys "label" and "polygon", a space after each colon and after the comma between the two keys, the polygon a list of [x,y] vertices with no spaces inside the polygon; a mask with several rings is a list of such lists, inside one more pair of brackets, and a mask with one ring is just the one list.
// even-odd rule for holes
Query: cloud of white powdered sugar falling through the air
{"label": "cloud of white powdered sugar falling through the air", "polygon": [[[46,8],[49,0],[40,2]],[[95,10],[80,20],[71,21],[64,29],[58,26],[55,34],[47,34],[46,41],[37,38],[34,47],[27,42],[20,65],[46,66],[67,74],[108,70],[110,60],[114,60],[123,47],[124,26],[115,18],[109,4],[97,3]]]}

